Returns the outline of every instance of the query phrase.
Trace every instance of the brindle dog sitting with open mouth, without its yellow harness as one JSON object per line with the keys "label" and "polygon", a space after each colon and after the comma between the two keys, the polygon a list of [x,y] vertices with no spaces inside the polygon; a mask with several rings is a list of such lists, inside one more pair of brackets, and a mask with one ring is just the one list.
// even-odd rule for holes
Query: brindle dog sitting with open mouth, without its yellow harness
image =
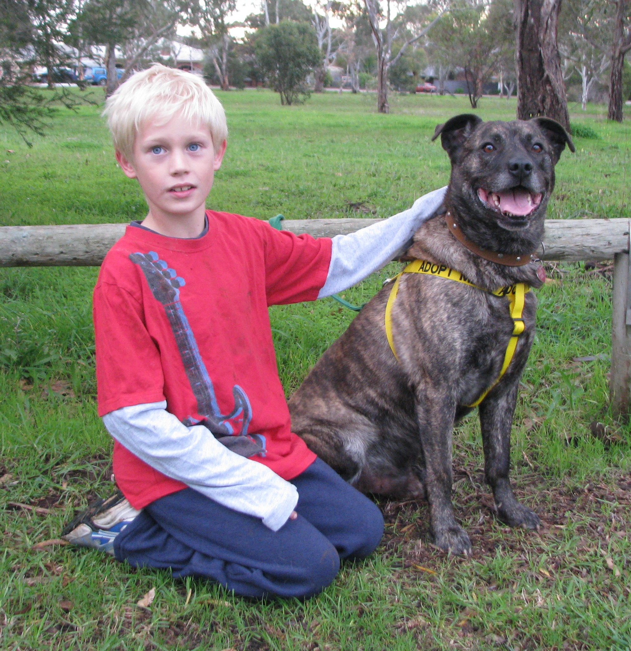
{"label": "brindle dog sitting with open mouth, without its yellow harness", "polygon": [[[458,115],[438,125],[438,135],[451,159],[449,189],[406,259],[451,267],[478,288],[404,274],[392,312],[397,361],[384,326],[387,284],[322,355],[289,407],[294,432],[342,477],[367,493],[427,497],[436,545],[469,553],[469,536],[451,505],[452,428],[498,378],[512,335],[509,300],[491,292],[514,283],[537,288],[545,277],[535,260],[506,266],[470,249],[531,259],[542,241],[554,165],[565,145],[572,151],[574,145],[548,118],[482,122]],[[447,212],[467,245],[451,234]],[[479,405],[497,515],[525,529],[537,529],[539,518],[512,493],[510,436],[535,307],[535,294],[527,292],[525,331],[511,365]]]}

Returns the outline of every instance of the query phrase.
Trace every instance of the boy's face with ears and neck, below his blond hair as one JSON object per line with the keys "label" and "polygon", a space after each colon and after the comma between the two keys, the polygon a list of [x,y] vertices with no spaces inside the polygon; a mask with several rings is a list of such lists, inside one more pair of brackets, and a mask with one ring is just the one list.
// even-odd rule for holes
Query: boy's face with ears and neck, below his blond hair
{"label": "boy's face with ears and neck, below his blond hair", "polygon": [[210,130],[176,114],[169,122],[147,124],[136,134],[133,160],[116,159],[129,178],[137,178],[147,197],[147,219],[161,225],[202,220],[214,173],[226,143],[215,151]]}

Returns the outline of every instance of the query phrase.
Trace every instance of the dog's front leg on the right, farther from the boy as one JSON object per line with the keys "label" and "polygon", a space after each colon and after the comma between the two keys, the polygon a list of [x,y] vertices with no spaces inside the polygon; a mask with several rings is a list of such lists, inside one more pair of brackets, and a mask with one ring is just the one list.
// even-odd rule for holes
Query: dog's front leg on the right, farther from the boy
{"label": "dog's front leg on the right, farther from the boy", "polygon": [[480,426],[484,445],[484,474],[493,490],[498,518],[511,527],[537,529],[539,516],[520,504],[512,493],[511,426],[517,400],[519,377],[499,395],[480,404]]}

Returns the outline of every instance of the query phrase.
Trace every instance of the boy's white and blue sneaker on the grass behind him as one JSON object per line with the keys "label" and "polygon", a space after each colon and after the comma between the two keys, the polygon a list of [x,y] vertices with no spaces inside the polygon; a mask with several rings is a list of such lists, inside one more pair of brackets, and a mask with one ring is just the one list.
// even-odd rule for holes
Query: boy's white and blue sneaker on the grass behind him
{"label": "boy's white and blue sneaker on the grass behind him", "polygon": [[99,499],[79,513],[61,532],[63,540],[78,547],[92,547],[114,555],[114,540],[140,513],[119,491]]}

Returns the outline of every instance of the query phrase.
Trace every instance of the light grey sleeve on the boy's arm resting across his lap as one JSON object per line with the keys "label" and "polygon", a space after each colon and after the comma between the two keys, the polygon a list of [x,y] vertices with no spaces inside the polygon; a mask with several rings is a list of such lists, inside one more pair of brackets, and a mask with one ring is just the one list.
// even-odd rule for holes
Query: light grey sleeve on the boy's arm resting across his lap
{"label": "light grey sleeve on the boy's arm resting across his lap", "polygon": [[203,426],[186,427],[167,403],[123,407],[103,417],[105,427],[132,454],[213,501],[262,519],[277,531],[298,503],[293,484],[265,465],[225,446]]}

